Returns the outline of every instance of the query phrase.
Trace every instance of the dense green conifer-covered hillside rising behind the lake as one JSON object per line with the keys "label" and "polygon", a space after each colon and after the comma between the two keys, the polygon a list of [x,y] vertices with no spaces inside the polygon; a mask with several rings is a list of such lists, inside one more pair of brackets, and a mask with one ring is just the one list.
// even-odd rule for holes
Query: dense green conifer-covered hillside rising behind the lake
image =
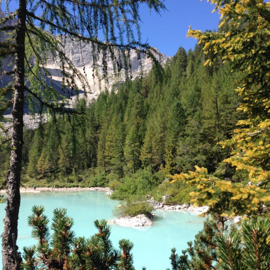
{"label": "dense green conifer-covered hillside rising behind the lake", "polygon": [[[146,78],[116,85],[90,104],[79,100],[82,115],[55,115],[27,131],[23,182],[111,184],[117,189],[143,174],[150,179],[141,187],[147,192],[166,174],[187,172],[195,165],[237,181],[241,176],[222,163],[228,149],[217,143],[229,139],[237,120],[243,119],[236,111],[241,102],[234,90],[238,74],[221,61],[211,67],[204,62],[199,45],[188,52],[180,47],[164,68],[153,67]],[[140,193],[138,187],[127,189]]]}

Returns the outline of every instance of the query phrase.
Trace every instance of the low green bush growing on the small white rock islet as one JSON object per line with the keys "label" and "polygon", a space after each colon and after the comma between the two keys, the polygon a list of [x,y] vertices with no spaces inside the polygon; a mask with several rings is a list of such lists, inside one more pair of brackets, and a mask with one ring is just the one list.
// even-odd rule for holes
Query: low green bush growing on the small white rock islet
{"label": "low green bush growing on the small white rock islet", "polygon": [[149,215],[154,210],[153,206],[148,202],[122,202],[113,211],[117,217],[131,216],[135,217],[139,214]]}

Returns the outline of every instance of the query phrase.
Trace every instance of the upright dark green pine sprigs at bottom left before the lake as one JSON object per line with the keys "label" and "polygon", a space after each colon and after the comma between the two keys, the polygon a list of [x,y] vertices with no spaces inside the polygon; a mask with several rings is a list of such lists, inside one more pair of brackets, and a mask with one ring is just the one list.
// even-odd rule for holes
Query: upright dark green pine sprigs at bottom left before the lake
{"label": "upright dark green pine sprigs at bottom left before the lake", "polygon": [[110,240],[110,226],[105,220],[95,220],[98,233],[90,239],[75,238],[71,230],[73,219],[66,209],[55,209],[52,218],[52,235],[49,234],[49,220],[43,214],[43,206],[34,206],[28,217],[32,226],[32,236],[38,240],[37,246],[24,247],[22,269],[118,269],[134,270],[131,250],[133,243],[122,239],[120,250],[113,247]]}

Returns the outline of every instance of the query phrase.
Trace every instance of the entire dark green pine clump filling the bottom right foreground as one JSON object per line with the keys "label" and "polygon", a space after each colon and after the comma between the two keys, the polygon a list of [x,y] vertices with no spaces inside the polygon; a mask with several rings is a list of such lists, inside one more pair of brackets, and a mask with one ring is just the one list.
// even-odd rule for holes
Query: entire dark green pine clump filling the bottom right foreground
{"label": "entire dark green pine clump filling the bottom right foreground", "polygon": [[241,228],[232,225],[229,232],[215,221],[205,221],[195,240],[188,242],[183,255],[172,249],[173,270],[266,270],[270,266],[270,221],[254,217],[243,221]]}

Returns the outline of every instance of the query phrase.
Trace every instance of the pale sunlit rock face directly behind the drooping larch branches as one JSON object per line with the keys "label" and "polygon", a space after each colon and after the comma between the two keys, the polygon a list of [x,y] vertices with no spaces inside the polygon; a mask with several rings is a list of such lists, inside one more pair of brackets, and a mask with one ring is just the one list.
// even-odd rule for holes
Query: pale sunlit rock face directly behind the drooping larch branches
{"label": "pale sunlit rock face directly behind the drooping larch branches", "polygon": [[[149,58],[146,53],[140,53],[138,55],[136,49],[131,49],[125,52],[126,56],[128,56],[128,70],[125,71],[124,57],[121,53],[118,53],[117,50],[115,55],[113,55],[114,57],[110,56],[110,52],[103,55],[101,55],[100,52],[100,54],[96,56],[96,59],[94,59],[95,56],[93,55],[91,44],[73,42],[70,38],[62,38],[61,42],[64,44],[66,56],[82,74],[86,74],[87,76],[89,85],[89,90],[87,91],[88,100],[96,98],[105,88],[108,88],[110,91],[112,86],[117,82],[125,81],[127,72],[131,79],[135,79],[137,76],[147,75],[153,65],[152,59]],[[159,52],[153,54],[162,66],[169,58],[167,55]],[[106,76],[104,76],[103,70],[104,63],[106,63],[107,68]],[[119,71],[117,71],[117,63],[120,67]],[[61,87],[62,75],[57,61],[49,61],[47,68],[52,74],[54,83],[57,85],[57,82],[59,82],[59,87]],[[84,93],[81,92],[79,95],[84,95]]]}

